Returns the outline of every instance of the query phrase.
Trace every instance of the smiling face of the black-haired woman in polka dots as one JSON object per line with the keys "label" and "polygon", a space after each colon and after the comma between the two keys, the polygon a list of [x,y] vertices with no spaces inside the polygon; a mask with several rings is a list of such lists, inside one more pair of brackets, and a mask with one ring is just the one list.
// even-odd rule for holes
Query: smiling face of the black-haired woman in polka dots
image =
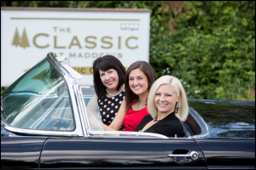
{"label": "smiling face of the black-haired woman in polka dots", "polygon": [[119,75],[116,70],[100,71],[100,77],[103,85],[108,89],[115,89],[119,84]]}

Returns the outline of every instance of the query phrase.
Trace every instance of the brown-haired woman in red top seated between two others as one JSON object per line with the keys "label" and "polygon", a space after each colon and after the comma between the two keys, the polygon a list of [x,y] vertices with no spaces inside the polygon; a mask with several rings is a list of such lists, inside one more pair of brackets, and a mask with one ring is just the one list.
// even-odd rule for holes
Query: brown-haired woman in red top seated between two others
{"label": "brown-haired woman in red top seated between two others", "polygon": [[125,102],[117,116],[105,130],[118,130],[125,125],[125,131],[134,131],[144,116],[148,115],[148,92],[156,80],[153,68],[145,61],[130,65],[125,77]]}

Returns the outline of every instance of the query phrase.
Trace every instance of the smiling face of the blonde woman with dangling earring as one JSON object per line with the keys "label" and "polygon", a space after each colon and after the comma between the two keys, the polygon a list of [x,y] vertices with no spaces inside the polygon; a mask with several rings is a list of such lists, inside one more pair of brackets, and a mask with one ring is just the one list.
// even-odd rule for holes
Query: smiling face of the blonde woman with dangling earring
{"label": "smiling face of the blonde woman with dangling earring", "polygon": [[180,99],[175,89],[169,84],[160,85],[154,96],[154,105],[159,113],[171,113]]}

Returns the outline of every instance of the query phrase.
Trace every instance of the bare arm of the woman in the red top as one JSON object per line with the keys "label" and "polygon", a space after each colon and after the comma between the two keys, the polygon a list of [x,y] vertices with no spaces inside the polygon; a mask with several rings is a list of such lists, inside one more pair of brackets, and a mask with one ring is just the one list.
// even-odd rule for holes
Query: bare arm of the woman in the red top
{"label": "bare arm of the woman in the red top", "polygon": [[123,126],[124,117],[126,113],[125,108],[126,108],[126,102],[125,102],[125,99],[123,99],[123,102],[119,107],[118,113],[114,117],[113,122],[111,122],[111,124],[109,125],[109,127],[112,128],[113,130],[119,130],[119,128]]}

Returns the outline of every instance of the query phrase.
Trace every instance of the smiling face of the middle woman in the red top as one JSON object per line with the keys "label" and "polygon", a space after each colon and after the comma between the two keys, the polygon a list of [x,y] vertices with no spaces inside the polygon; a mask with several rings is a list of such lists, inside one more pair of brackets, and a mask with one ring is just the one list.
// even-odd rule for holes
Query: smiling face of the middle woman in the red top
{"label": "smiling face of the middle woman in the red top", "polygon": [[140,69],[134,69],[129,74],[129,86],[134,94],[148,93],[148,78]]}

